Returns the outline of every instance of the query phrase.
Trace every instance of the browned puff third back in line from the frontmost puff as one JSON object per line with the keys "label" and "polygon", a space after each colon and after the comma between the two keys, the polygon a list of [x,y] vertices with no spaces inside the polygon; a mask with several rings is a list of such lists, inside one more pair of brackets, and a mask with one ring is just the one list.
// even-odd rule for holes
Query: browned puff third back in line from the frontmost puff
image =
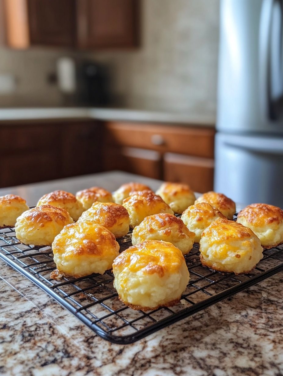
{"label": "browned puff third back in line from the frontmost puff", "polygon": [[158,213],[174,214],[169,205],[153,192],[147,192],[145,195],[133,194],[123,201],[123,206],[130,215],[130,227],[132,228],[138,226],[148,215]]}

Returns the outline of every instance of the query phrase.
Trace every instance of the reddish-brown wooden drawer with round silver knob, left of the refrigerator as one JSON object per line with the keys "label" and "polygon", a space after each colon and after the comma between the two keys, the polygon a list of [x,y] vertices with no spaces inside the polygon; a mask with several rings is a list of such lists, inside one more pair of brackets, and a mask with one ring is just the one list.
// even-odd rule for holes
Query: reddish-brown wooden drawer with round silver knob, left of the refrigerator
{"label": "reddish-brown wooden drawer with round silver knob, left of the refrigerator", "polygon": [[106,139],[123,145],[213,158],[215,130],[185,126],[107,122]]}

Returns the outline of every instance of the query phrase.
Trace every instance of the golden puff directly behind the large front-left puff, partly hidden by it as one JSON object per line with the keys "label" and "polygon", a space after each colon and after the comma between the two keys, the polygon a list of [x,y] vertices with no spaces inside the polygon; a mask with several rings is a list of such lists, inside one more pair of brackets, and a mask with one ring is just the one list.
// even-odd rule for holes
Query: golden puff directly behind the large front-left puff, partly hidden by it
{"label": "golden puff directly behind the large front-left puff, partly hidden by it", "polygon": [[106,227],[116,238],[121,238],[129,232],[130,217],[127,209],[113,202],[95,202],[79,218],[79,222],[85,220]]}

